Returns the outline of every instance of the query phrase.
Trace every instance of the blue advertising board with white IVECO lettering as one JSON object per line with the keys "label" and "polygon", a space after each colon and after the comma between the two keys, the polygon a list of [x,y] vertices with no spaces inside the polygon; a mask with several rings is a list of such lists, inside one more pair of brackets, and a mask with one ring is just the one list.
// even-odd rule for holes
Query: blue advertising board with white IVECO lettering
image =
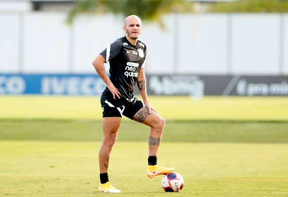
{"label": "blue advertising board with white IVECO lettering", "polygon": [[0,94],[101,95],[98,75],[0,74]]}

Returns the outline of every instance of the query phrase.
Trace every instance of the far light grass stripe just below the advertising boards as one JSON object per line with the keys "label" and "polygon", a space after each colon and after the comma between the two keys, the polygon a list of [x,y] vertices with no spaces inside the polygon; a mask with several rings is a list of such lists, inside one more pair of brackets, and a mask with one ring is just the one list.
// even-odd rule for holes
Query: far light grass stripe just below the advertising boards
{"label": "far light grass stripe just below the advertising boards", "polygon": [[[166,120],[288,121],[287,97],[205,96],[192,99],[189,96],[149,95],[148,98]],[[0,105],[1,119],[102,118],[99,96],[2,95]]]}

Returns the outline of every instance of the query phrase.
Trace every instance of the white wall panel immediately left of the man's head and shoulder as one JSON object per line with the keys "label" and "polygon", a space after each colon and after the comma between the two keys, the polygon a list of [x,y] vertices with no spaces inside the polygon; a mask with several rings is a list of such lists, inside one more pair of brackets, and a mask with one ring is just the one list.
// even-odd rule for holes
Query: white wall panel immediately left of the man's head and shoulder
{"label": "white wall panel immediately left of the man's head and shoulder", "polygon": [[123,36],[122,27],[122,19],[113,15],[98,17],[83,15],[78,18],[71,32],[72,72],[94,72],[92,61],[108,44]]}

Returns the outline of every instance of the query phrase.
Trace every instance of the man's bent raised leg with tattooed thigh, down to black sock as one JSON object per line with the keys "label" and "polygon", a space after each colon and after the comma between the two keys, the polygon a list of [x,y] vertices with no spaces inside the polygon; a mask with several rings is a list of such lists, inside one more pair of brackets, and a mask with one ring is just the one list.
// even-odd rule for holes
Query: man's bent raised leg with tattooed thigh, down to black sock
{"label": "man's bent raised leg with tattooed thigh, down to black sock", "polygon": [[151,127],[149,136],[149,156],[157,155],[165,126],[165,120],[154,111],[149,114],[146,106],[142,107],[134,115],[133,120]]}

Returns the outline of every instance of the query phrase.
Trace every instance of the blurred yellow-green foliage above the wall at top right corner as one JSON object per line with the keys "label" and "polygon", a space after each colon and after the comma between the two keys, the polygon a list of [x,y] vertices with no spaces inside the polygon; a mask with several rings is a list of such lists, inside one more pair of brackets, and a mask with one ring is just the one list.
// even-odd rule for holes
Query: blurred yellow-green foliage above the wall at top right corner
{"label": "blurred yellow-green foliage above the wall at top right corner", "polygon": [[288,0],[238,0],[218,2],[209,6],[209,12],[288,12]]}

